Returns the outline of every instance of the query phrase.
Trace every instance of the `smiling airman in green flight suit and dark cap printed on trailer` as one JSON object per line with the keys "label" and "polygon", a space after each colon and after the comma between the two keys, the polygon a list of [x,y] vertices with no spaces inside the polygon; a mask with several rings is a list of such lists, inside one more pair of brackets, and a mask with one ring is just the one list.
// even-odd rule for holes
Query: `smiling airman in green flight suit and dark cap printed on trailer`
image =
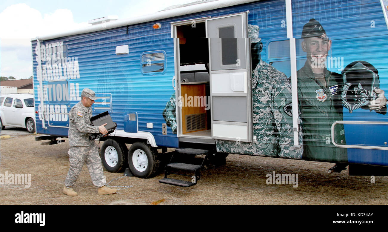
{"label": "smiling airman in green flight suit and dark cap printed on trailer", "polygon": [[[346,163],[347,149],[334,146],[331,137],[331,125],[343,120],[343,76],[327,70],[324,65],[331,40],[315,19],[310,19],[303,26],[301,37],[301,46],[307,57],[305,65],[297,72],[298,105],[303,122],[303,158]],[[374,91],[378,97],[368,108],[379,113],[386,99],[383,90],[376,88]],[[334,139],[337,144],[346,144],[343,124],[335,126]]]}

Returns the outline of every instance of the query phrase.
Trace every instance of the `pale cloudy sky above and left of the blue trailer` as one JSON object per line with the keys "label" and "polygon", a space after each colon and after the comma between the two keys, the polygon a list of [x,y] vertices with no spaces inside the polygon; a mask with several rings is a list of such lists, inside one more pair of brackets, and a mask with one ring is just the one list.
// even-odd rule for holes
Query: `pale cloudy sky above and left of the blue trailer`
{"label": "pale cloudy sky above and left of the blue trailer", "polygon": [[196,0],[2,0],[0,2],[0,75],[33,75],[31,38],[90,26],[104,16],[137,17]]}

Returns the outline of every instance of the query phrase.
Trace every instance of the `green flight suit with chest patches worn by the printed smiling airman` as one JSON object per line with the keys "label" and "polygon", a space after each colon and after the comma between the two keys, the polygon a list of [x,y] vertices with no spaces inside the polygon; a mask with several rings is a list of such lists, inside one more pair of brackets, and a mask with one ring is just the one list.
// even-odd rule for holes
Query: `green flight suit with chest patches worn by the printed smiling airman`
{"label": "green flight suit with chest patches worn by the printed smiling airman", "polygon": [[[347,162],[347,149],[333,145],[331,125],[342,121],[342,76],[324,69],[326,87],[315,79],[310,65],[298,70],[298,104],[303,124],[303,158]],[[346,144],[343,125],[334,128],[337,144]]]}

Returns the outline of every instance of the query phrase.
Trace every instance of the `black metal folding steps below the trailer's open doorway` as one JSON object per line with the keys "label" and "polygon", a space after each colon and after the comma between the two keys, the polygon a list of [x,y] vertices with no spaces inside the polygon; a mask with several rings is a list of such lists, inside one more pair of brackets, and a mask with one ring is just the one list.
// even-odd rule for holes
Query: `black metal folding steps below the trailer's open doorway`
{"label": "black metal folding steps below the trailer's open doorway", "polygon": [[[159,182],[163,184],[170,184],[170,185],[181,186],[181,187],[191,187],[193,185],[196,185],[197,180],[201,178],[201,168],[203,167],[204,161],[206,160],[208,153],[210,151],[203,150],[203,149],[193,149],[193,148],[179,148],[179,149],[176,149],[175,151],[178,154],[195,155],[195,156],[203,155],[204,158],[201,165],[171,162],[173,160],[174,155],[176,155],[177,153],[173,154],[173,156],[171,156],[170,163],[167,164],[165,167],[165,178],[159,180]],[[179,170],[180,173],[172,172],[175,170]],[[167,178],[167,176],[170,174],[191,177],[191,181]]]}

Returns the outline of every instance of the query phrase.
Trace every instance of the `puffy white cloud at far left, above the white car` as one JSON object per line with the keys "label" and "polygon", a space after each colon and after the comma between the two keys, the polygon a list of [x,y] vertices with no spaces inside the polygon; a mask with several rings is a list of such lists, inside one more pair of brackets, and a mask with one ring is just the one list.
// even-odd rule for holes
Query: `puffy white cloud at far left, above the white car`
{"label": "puffy white cloud at far left, above the white car", "polygon": [[[25,3],[10,5],[0,13],[1,76],[28,78],[32,74],[31,38],[88,26],[75,23],[68,9],[42,14]],[[30,60],[30,61],[29,61]]]}

